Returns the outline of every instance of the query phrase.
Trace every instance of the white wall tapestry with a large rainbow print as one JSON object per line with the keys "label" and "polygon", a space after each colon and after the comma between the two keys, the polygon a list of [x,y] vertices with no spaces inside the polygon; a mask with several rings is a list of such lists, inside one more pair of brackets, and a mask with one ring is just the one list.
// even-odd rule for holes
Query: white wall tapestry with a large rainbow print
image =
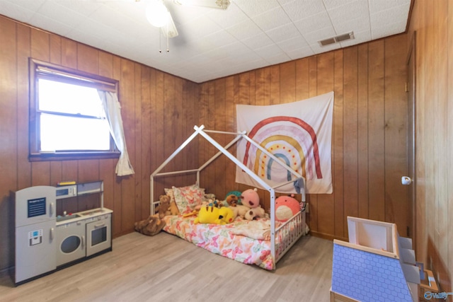
{"label": "white wall tapestry with a large rainbow print", "polygon": [[[281,105],[236,105],[236,115],[238,131],[245,130],[253,141],[304,176],[307,193],[332,192],[333,91]],[[294,179],[273,158],[245,139],[239,141],[236,152],[244,165],[270,185]],[[260,187],[239,167],[236,182]],[[292,183],[275,191],[296,192]]]}

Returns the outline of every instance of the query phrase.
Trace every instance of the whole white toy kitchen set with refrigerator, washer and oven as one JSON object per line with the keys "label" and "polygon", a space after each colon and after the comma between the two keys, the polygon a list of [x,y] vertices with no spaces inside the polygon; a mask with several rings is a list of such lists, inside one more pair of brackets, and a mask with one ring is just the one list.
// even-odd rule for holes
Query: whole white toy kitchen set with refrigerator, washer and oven
{"label": "whole white toy kitchen set with refrigerator, washer and oven", "polygon": [[27,187],[15,197],[16,286],[112,250],[103,181]]}

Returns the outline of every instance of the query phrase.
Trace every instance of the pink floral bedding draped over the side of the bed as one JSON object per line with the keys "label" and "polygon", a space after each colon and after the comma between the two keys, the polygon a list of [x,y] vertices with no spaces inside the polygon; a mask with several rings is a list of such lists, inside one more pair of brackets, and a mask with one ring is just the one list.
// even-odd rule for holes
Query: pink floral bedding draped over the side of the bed
{"label": "pink floral bedding draped over the side of the bed", "polygon": [[[215,254],[242,263],[258,265],[263,269],[275,269],[275,263],[270,255],[270,240],[264,240],[269,237],[269,230],[266,228],[270,225],[269,219],[260,219],[256,222],[236,218],[233,223],[224,226],[205,223],[194,224],[194,219],[195,216],[187,218],[165,216],[166,226],[164,231]],[[247,223],[252,223],[249,226],[250,228],[246,226]]]}

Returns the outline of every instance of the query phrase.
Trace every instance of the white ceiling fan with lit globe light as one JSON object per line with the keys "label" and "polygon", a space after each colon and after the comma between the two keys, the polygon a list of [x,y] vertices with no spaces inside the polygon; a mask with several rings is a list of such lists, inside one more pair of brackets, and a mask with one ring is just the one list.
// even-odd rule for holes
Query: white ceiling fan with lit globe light
{"label": "white ceiling fan with lit globe light", "polygon": [[[173,3],[182,6],[202,6],[225,10],[231,2],[229,0],[173,0]],[[147,6],[146,16],[151,25],[161,28],[161,32],[165,37],[178,36],[178,30],[171,17],[171,13],[164,4],[164,0],[150,0]]]}

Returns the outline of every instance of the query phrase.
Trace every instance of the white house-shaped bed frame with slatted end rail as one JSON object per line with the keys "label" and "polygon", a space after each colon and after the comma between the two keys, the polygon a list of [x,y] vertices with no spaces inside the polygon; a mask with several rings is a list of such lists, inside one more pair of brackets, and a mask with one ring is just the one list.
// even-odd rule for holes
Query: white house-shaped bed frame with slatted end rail
{"label": "white house-shaped bed frame with slatted end rail", "polygon": [[[273,260],[273,267],[275,268],[275,264],[285,255],[285,253],[294,245],[294,243],[299,240],[300,237],[305,235],[306,233],[306,219],[305,219],[305,211],[299,211],[297,214],[292,216],[291,219],[285,221],[285,223],[282,223],[280,226],[275,227],[275,189],[278,189],[279,187],[282,187],[284,185],[288,185],[289,183],[294,183],[295,181],[298,182],[299,185],[299,192],[296,192],[294,189],[295,194],[302,194],[302,205],[305,206],[305,179],[302,175],[299,175],[296,171],[292,170],[289,166],[287,166],[285,163],[280,161],[276,156],[274,156],[272,153],[270,153],[268,150],[264,149],[262,146],[260,146],[256,141],[253,141],[250,137],[247,136],[246,132],[221,132],[221,131],[215,131],[215,130],[208,130],[205,129],[204,125],[201,125],[200,127],[194,126],[195,132],[186,139],[183,144],[181,144],[176,151],[174,151],[171,156],[169,156],[164,163],[162,163],[159,168],[156,168],[156,170],[151,173],[150,176],[150,189],[151,189],[151,194],[150,194],[150,210],[151,214],[155,213],[155,208],[159,204],[159,200],[154,200],[154,182],[156,178],[161,178],[165,176],[171,176],[171,175],[184,175],[184,174],[191,174],[191,173],[196,173],[196,183],[197,185],[200,185],[200,173],[208,166],[212,161],[214,161],[216,158],[224,154],[226,157],[228,157],[231,161],[233,161],[237,166],[239,166],[243,171],[245,171],[248,175],[250,175],[256,182],[260,184],[260,189],[267,190],[270,193],[270,254],[272,256]],[[207,133],[215,133],[215,134],[226,134],[226,135],[232,135],[234,136],[234,139],[232,139],[229,144],[226,144],[226,146],[221,146],[217,141],[215,141],[212,137],[210,137],[209,134]],[[168,164],[170,163],[175,156],[182,151],[185,146],[190,144],[195,137],[201,135],[204,137],[207,141],[209,141],[217,150],[218,152],[212,156],[208,161],[203,163],[200,168],[197,169],[192,169],[192,170],[178,170],[178,171],[173,171],[173,172],[165,172],[165,173],[160,173],[160,171]],[[244,165],[241,161],[239,161],[236,156],[231,154],[227,149],[229,149],[231,146],[234,146],[240,139],[246,139],[249,141],[251,144],[256,146],[257,149],[260,149],[263,153],[265,153],[267,156],[270,158],[273,158],[275,163],[278,163],[281,165],[283,168],[285,168],[291,175],[294,177],[294,179],[282,182],[280,184],[277,184],[275,186],[269,185],[265,180],[260,178],[256,173],[254,173],[252,170],[250,170],[246,165]],[[301,181],[302,180],[302,181]],[[303,207],[304,209],[305,207]],[[294,221],[296,223],[294,223]],[[296,226],[296,227],[294,227]],[[276,249],[276,238],[279,238],[279,243],[278,243],[278,248]]]}

